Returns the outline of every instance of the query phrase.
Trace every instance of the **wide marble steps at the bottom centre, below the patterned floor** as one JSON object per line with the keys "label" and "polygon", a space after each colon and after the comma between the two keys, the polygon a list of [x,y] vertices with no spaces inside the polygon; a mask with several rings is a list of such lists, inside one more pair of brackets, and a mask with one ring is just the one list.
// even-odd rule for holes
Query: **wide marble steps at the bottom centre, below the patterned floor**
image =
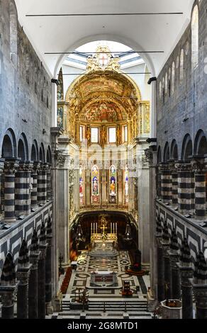
{"label": "wide marble steps at the bottom centre, below the patterned floor", "polygon": [[[62,301],[62,312],[60,316],[64,318],[80,316],[82,310],[71,310],[70,301]],[[89,308],[84,310],[86,319],[90,318],[135,318],[151,319],[151,314],[147,310],[146,300],[89,300]]]}

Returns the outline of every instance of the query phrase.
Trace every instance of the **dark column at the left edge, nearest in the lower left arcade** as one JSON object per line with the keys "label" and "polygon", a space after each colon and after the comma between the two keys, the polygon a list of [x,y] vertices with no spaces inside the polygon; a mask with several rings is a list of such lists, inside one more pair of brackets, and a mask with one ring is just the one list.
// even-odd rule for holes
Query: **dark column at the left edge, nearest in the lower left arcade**
{"label": "dark column at the left edge, nearest in the lower left arcade", "polygon": [[0,286],[1,319],[13,319],[14,292],[17,284],[13,286]]}

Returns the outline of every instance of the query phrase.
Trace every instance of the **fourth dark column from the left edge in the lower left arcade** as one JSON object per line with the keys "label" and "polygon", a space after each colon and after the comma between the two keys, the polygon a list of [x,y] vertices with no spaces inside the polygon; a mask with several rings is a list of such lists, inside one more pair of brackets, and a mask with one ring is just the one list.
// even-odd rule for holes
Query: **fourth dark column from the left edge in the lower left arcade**
{"label": "fourth dark column from the left edge in the lower left arcade", "polygon": [[47,244],[40,244],[38,261],[38,319],[45,319],[45,258]]}

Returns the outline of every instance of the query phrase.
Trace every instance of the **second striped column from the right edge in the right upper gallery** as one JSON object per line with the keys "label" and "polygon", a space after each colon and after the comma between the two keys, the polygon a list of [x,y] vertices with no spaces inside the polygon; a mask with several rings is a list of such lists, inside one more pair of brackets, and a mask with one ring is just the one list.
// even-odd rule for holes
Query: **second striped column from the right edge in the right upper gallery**
{"label": "second striped column from the right edge in the right upper gallery", "polygon": [[180,213],[192,212],[192,199],[194,198],[194,182],[192,181],[191,164],[178,162],[178,205]]}

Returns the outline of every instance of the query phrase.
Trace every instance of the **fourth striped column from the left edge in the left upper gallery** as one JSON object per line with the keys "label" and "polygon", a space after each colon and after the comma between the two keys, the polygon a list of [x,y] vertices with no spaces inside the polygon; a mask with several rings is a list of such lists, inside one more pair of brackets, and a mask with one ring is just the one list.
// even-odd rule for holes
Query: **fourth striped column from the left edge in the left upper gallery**
{"label": "fourth striped column from the left edge in the left upper gallery", "polygon": [[40,166],[38,172],[38,204],[45,204],[47,200],[47,163]]}

